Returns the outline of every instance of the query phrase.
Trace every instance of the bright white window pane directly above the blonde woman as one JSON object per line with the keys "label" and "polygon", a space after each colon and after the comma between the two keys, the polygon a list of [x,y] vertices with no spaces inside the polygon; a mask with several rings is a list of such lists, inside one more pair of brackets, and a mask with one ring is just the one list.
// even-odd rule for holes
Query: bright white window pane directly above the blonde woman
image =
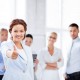
{"label": "bright white window pane directly above the blonde woman", "polygon": [[46,0],[46,27],[61,27],[61,0]]}

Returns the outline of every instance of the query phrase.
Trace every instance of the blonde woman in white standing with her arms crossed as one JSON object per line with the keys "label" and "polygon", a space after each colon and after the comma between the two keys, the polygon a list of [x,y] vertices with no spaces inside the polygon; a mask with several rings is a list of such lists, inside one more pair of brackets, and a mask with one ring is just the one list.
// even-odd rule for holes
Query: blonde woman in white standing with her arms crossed
{"label": "blonde woman in white standing with her arms crossed", "polygon": [[57,33],[49,36],[47,48],[41,50],[38,55],[37,80],[60,80],[58,69],[63,65],[61,50],[54,46]]}

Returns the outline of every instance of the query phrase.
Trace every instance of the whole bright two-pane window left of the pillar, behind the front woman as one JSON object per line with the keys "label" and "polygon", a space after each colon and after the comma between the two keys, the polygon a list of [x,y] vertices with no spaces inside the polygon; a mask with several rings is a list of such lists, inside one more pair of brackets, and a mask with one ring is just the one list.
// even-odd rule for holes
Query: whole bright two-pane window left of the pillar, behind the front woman
{"label": "whole bright two-pane window left of the pillar, behind the front woman", "polygon": [[0,28],[7,28],[14,18],[26,20],[27,0],[0,0]]}

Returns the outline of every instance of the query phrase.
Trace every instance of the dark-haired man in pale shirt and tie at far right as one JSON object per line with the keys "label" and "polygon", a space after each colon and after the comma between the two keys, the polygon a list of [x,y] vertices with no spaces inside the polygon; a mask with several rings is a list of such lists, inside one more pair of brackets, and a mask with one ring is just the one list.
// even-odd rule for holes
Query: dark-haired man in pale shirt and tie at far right
{"label": "dark-haired man in pale shirt and tie at far right", "polygon": [[69,50],[65,80],[80,80],[80,38],[79,26],[72,23],[69,26],[72,45]]}

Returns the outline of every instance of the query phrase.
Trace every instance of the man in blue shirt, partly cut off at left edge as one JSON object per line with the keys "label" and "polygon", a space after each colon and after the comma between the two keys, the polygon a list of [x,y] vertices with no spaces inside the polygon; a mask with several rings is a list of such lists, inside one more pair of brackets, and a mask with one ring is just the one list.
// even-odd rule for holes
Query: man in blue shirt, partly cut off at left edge
{"label": "man in blue shirt, partly cut off at left edge", "polygon": [[[7,39],[8,39],[7,29],[4,29],[4,28],[0,29],[0,47],[1,47],[1,43],[3,41],[7,41]],[[1,53],[1,50],[0,50],[0,80],[2,80],[4,72],[5,72],[5,66],[4,66],[2,53]]]}

